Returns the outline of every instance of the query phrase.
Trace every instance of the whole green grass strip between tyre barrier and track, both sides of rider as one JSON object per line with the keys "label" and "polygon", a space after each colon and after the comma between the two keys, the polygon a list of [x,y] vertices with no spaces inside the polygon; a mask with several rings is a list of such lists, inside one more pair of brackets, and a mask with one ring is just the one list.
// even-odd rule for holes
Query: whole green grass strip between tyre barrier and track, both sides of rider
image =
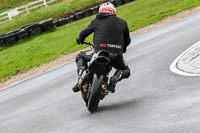
{"label": "whole green grass strip between tyre barrier and track, both sides of rider", "polygon": [[[130,31],[134,31],[198,5],[199,0],[137,0],[117,8],[117,13],[128,22]],[[1,51],[0,81],[4,82],[14,74],[55,60],[62,54],[84,48],[77,45],[75,39],[94,17],[67,24]],[[92,41],[92,36],[87,41]]]}

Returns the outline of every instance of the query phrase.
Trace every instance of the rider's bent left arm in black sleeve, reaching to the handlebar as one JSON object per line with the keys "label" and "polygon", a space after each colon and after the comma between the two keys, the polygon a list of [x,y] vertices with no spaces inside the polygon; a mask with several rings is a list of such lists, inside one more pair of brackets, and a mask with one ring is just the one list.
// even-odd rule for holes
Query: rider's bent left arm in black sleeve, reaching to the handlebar
{"label": "rider's bent left arm in black sleeve, reaching to the handlebar", "polygon": [[89,36],[90,34],[94,32],[94,29],[95,29],[94,23],[95,23],[95,19],[92,20],[92,22],[88,25],[88,27],[86,27],[80,32],[79,40],[84,41],[87,36]]}

